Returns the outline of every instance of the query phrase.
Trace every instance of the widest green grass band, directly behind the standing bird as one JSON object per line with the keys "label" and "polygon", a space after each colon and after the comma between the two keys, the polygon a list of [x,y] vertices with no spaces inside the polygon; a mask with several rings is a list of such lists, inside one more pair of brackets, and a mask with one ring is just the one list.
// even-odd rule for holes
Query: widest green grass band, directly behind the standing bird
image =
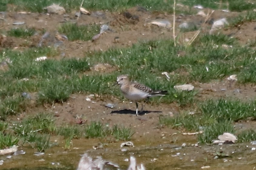
{"label": "widest green grass band, directly behind the standing bird", "polygon": [[[121,98],[120,90],[110,85],[116,81],[117,75],[128,74],[131,80],[139,80],[154,90],[168,90],[169,95],[151,100],[177,102],[186,107],[195,102],[197,92],[179,92],[173,90],[173,86],[191,81],[208,82],[239,72],[247,74],[246,69],[253,70],[253,64],[249,63],[253,61],[255,52],[248,47],[239,47],[236,42],[236,39],[222,34],[202,35],[189,47],[181,44],[174,47],[172,40],[148,41],[129,48],[89,53],[83,59],[47,59],[40,62],[35,58],[55,56],[58,52],[52,48],[32,48],[23,52],[5,50],[2,51],[2,60],[10,58],[12,63],[0,76],[0,96],[39,92],[38,103],[64,102],[76,92]],[[234,48],[225,49],[222,44],[232,44]],[[185,55],[178,57],[179,51],[184,51]],[[81,75],[89,70],[89,64],[97,63],[108,63],[121,71]],[[174,75],[167,81],[161,76],[162,72],[173,72]],[[22,81],[24,78],[29,80]]]}

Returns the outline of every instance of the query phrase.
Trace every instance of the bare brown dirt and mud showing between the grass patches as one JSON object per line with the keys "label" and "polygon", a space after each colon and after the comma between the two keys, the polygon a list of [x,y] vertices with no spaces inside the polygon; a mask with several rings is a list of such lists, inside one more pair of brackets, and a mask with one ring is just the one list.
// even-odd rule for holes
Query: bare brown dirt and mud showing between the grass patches
{"label": "bare brown dirt and mud showing between the grass patches", "polygon": [[[167,19],[171,23],[173,22],[173,15],[164,14],[159,12],[150,12],[143,10],[143,8],[131,8],[128,9],[132,15],[138,16],[138,19],[126,18],[123,13],[110,13],[103,12],[103,16],[93,16],[93,15],[81,15],[77,21],[75,17],[75,11],[68,14],[67,16],[63,15],[48,15],[48,14],[37,14],[37,13],[27,13],[21,14],[16,12],[7,12],[6,20],[0,20],[0,29],[10,30],[11,28],[24,27],[24,25],[17,26],[12,25],[16,21],[24,21],[25,26],[28,28],[34,27],[37,30],[46,30],[51,34],[56,34],[58,27],[62,22],[71,21],[78,22],[79,25],[86,24],[103,24],[109,23],[110,28],[113,32],[108,32],[100,36],[96,41],[64,41],[63,46],[61,47],[61,53],[65,54],[65,57],[86,57],[85,53],[90,51],[102,50],[105,51],[110,47],[129,47],[138,41],[147,41],[153,39],[163,39],[163,38],[173,38],[173,32],[171,29],[159,27],[157,25],[149,24],[149,21],[153,19]],[[207,9],[205,9],[207,12]],[[214,20],[231,17],[237,15],[237,13],[223,12],[223,11],[214,11],[211,18]],[[176,16],[176,25],[183,23],[184,21],[197,21],[198,23],[204,22],[205,18],[194,15],[177,15]],[[206,25],[206,28],[210,28],[210,25]],[[241,44],[248,42],[248,39],[255,38],[254,33],[255,23],[248,23],[241,25],[239,30],[238,28],[232,28],[226,30],[227,34],[233,34],[235,37],[239,38]],[[177,32],[178,34],[178,32]],[[194,35],[194,32],[184,33],[185,38],[191,38]],[[12,49],[23,50],[27,47],[36,46],[39,43],[39,40],[42,35],[34,35],[29,39],[22,38],[13,38],[7,37],[7,40],[2,47],[9,47]],[[119,41],[115,41],[115,38],[118,37]],[[53,43],[55,41],[47,40],[47,43]],[[1,47],[0,47],[1,48]],[[62,58],[63,56],[57,56],[56,58]],[[255,85],[239,85],[234,82],[229,82],[227,80],[214,81],[211,83],[192,83],[195,86],[195,90],[198,91],[197,98],[199,100],[204,100],[206,98],[220,98],[220,97],[231,97],[242,100],[253,99],[256,95]],[[223,90],[225,89],[225,90]],[[76,167],[79,161],[79,154],[83,154],[86,150],[92,155],[102,155],[104,158],[110,159],[113,162],[123,162],[124,158],[128,158],[131,152],[134,152],[136,157],[138,157],[139,162],[143,162],[148,169],[170,169],[171,167],[176,167],[176,169],[199,169],[201,166],[211,165],[213,168],[217,168],[217,165],[223,166],[223,169],[241,169],[243,167],[243,162],[239,159],[243,155],[247,154],[242,152],[246,146],[231,146],[230,150],[234,150],[236,155],[229,158],[229,162],[237,162],[239,164],[236,168],[231,167],[229,164],[223,165],[222,160],[218,160],[217,164],[214,162],[213,153],[210,152],[212,146],[204,146],[203,148],[199,147],[188,147],[186,150],[181,152],[179,156],[177,155],[179,150],[175,149],[180,147],[182,143],[195,144],[197,139],[196,136],[183,136],[180,133],[182,130],[176,130],[171,128],[162,128],[159,126],[159,116],[160,115],[169,115],[170,113],[179,114],[179,106],[177,103],[171,104],[160,104],[156,105],[154,103],[146,104],[143,114],[140,116],[135,116],[135,103],[129,103],[129,101],[120,101],[117,100],[114,96],[109,98],[102,97],[89,97],[91,101],[86,101],[86,98],[89,94],[73,94],[67,102],[63,104],[55,103],[53,106],[47,104],[45,106],[34,106],[28,108],[24,113],[20,114],[18,118],[22,120],[26,116],[30,116],[39,112],[51,112],[56,117],[56,122],[59,125],[62,124],[75,124],[79,121],[79,117],[88,122],[90,121],[103,121],[104,123],[121,124],[126,127],[132,127],[136,132],[132,137],[132,141],[135,146],[140,146],[138,150],[130,149],[129,153],[120,152],[119,148],[120,142],[108,144],[111,146],[106,146],[106,149],[103,150],[93,150],[92,146],[103,142],[100,139],[83,139],[83,140],[74,140],[72,149],[70,150],[71,156],[65,156],[63,148],[59,147],[57,150],[49,149],[46,152],[45,160],[51,161],[56,159],[56,162],[59,161],[65,164],[63,160],[70,159],[70,164],[73,167]],[[93,103],[94,102],[94,103]],[[113,109],[107,108],[106,103],[116,104],[116,107]],[[141,105],[140,105],[141,106]],[[193,111],[193,110],[191,110]],[[15,117],[17,119],[17,117]],[[246,122],[238,123],[242,128],[246,126]],[[255,124],[251,126],[256,127]],[[177,133],[176,135],[173,135]],[[57,137],[56,137],[57,138]],[[59,140],[59,139],[52,139]],[[173,144],[175,142],[175,144]],[[60,144],[62,146],[62,144]],[[176,147],[177,146],[177,147]],[[79,149],[74,149],[79,147]],[[221,147],[221,146],[220,146]],[[220,149],[218,147],[215,150]],[[223,146],[224,148],[228,146]],[[143,152],[145,149],[145,152]],[[151,149],[151,150],[147,150]],[[163,152],[161,152],[163,149]],[[231,154],[231,151],[228,151]],[[110,152],[109,152],[110,151]],[[208,152],[209,151],[209,152]],[[237,152],[236,152],[237,151]],[[27,153],[30,151],[28,150]],[[33,151],[31,151],[32,153]],[[112,154],[110,154],[112,153]],[[186,155],[187,153],[187,155]],[[47,157],[47,154],[51,156]],[[185,155],[184,155],[185,154]],[[242,155],[239,155],[242,154]],[[118,155],[118,156],[117,156]],[[28,158],[28,157],[26,157]],[[41,159],[42,157],[40,157]],[[156,158],[157,161],[152,161],[153,158]],[[34,167],[44,165],[43,162],[38,162],[39,158],[31,157],[29,158],[33,161],[24,161],[17,164],[4,164],[3,168],[17,168],[19,166],[24,167]],[[192,161],[196,160],[196,161]],[[208,160],[208,162],[207,162]],[[17,158],[17,161],[19,159]],[[163,165],[161,165],[164,162]],[[255,162],[251,159],[248,159],[245,163],[248,163],[248,168],[253,168]],[[127,166],[127,162],[121,163],[122,166]],[[156,168],[152,168],[155,166]],[[150,168],[151,167],[151,168]],[[217,168],[220,169],[220,168]]]}

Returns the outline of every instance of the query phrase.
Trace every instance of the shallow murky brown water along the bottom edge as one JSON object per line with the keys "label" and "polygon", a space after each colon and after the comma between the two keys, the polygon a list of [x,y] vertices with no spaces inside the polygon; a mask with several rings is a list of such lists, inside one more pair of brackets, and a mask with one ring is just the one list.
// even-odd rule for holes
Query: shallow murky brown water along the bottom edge
{"label": "shallow murky brown water along the bottom edge", "polygon": [[[192,137],[186,136],[186,138],[191,139]],[[102,156],[103,159],[120,165],[121,169],[128,167],[129,162],[125,162],[124,159],[129,159],[130,155],[136,157],[137,163],[143,163],[147,170],[200,169],[202,166],[211,166],[211,169],[240,170],[242,168],[253,169],[256,166],[256,151],[251,150],[253,145],[250,143],[195,147],[191,144],[196,142],[186,140],[186,146],[181,147],[182,143],[167,143],[162,142],[162,139],[153,143],[147,143],[148,139],[145,139],[144,144],[147,143],[147,145],[142,145],[143,139],[140,139],[140,142],[134,143],[135,147],[125,147],[127,151],[122,152],[121,141],[108,142],[103,146],[103,149],[94,150],[92,147],[103,141],[100,139],[79,139],[74,140],[73,146],[65,150],[62,147],[64,141],[59,137],[56,139],[59,140],[59,146],[50,148],[41,156],[35,156],[36,150],[31,147],[19,148],[26,153],[24,155],[12,155],[11,159],[7,159],[7,155],[1,155],[0,160],[4,160],[1,169],[76,169],[81,155],[85,152],[93,158]],[[214,159],[216,154],[223,157]]]}

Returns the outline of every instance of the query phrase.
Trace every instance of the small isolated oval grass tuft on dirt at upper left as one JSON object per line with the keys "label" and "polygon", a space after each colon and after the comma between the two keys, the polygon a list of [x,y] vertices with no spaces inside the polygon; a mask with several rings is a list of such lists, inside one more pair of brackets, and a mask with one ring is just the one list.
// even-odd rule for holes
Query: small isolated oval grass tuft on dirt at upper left
{"label": "small isolated oval grass tuft on dirt at upper left", "polygon": [[12,28],[8,31],[9,36],[26,38],[35,34],[35,28]]}

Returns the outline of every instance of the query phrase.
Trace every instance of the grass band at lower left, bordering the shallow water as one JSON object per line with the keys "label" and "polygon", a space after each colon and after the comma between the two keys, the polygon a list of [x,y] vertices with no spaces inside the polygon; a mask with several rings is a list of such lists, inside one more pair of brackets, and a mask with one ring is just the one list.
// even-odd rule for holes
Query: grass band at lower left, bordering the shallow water
{"label": "grass band at lower left, bordering the shallow water", "polygon": [[[12,145],[30,145],[39,152],[44,152],[53,145],[50,141],[53,135],[64,137],[65,149],[72,145],[72,139],[86,138],[104,138],[113,137],[116,140],[128,140],[133,136],[131,128],[113,125],[111,128],[100,122],[91,122],[88,125],[58,126],[52,114],[39,113],[28,117],[19,123],[0,122],[0,149]],[[19,142],[19,143],[18,143]]]}

